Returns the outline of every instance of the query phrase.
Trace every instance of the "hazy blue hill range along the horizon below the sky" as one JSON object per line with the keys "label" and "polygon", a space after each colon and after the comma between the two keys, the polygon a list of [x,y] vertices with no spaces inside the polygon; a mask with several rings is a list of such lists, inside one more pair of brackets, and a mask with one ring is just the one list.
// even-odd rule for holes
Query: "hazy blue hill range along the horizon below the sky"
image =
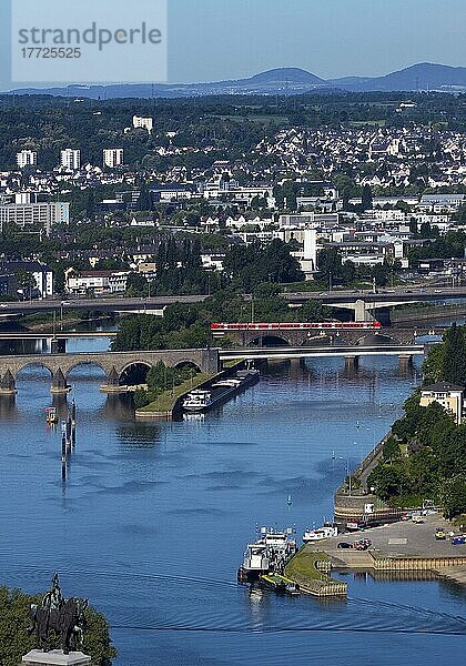
{"label": "hazy blue hill range along the horizon below the sky", "polygon": [[300,68],[277,68],[249,79],[213,83],[134,83],[112,85],[68,85],[62,88],[28,88],[16,94],[52,94],[74,98],[190,98],[214,94],[303,94],[305,92],[352,92],[438,90],[466,91],[466,68],[423,62],[385,77],[344,77],[321,79]]}

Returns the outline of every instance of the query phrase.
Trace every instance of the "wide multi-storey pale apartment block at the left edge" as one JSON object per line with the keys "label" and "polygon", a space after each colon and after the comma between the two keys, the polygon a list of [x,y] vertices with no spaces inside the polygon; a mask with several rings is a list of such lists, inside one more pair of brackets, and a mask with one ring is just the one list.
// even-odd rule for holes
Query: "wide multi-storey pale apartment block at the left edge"
{"label": "wide multi-storey pale apartment block at the left edge", "polygon": [[69,224],[70,204],[54,203],[7,203],[0,205],[0,231],[4,224],[16,224],[26,231],[45,231],[50,235],[52,226]]}

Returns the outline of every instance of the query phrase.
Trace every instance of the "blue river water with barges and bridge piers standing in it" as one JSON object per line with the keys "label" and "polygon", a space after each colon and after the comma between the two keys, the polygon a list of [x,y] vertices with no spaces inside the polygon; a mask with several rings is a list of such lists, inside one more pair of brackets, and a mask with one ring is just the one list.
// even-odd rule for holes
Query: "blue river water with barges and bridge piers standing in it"
{"label": "blue river water with barges and bridge piers standing in it", "polygon": [[99,392],[99,370],[77,369],[63,483],[60,434],[44,423],[50,379],[24,370],[17,398],[0,402],[1,583],[36,593],[58,571],[65,596],[107,615],[115,666],[464,664],[459,586],[351,574],[347,602],[321,603],[235,582],[256,524],[301,535],[331,517],[347,464],[398,417],[418,375],[391,357],[363,360],[352,379],[343,360],[270,365],[204,420],[139,424]]}

